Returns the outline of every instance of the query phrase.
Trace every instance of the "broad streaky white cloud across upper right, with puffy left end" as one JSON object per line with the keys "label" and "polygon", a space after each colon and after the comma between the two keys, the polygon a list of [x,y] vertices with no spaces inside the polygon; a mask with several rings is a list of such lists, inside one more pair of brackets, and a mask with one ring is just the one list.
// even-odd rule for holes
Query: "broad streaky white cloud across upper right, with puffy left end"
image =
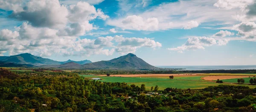
{"label": "broad streaky white cloud across upper right, with puffy left end", "polygon": [[[197,27],[199,23],[211,26],[212,23],[214,23],[213,26],[233,26],[234,23],[237,23],[237,18],[230,16],[246,13],[240,9],[219,9],[213,6],[215,2],[216,0],[179,0],[177,2],[163,3],[159,6],[147,9],[144,12],[139,11],[136,13],[136,16],[131,15],[134,14],[134,11],[131,11],[124,16],[120,15],[118,19],[108,20],[107,24],[122,29],[143,31],[181,29],[186,25],[185,29],[191,29]],[[127,4],[124,3],[123,5]],[[127,5],[127,7],[129,7],[129,5]],[[130,11],[130,8],[128,8],[127,11]],[[131,17],[138,23],[122,23],[123,20],[130,19]],[[138,19],[139,17],[141,19]],[[150,25],[142,25],[143,23],[147,23],[145,21],[150,18],[154,18],[154,22],[150,22]]]}

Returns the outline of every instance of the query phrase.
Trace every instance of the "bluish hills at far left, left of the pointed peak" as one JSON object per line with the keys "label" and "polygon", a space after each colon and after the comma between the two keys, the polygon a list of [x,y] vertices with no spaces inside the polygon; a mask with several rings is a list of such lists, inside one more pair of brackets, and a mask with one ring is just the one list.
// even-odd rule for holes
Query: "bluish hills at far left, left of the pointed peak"
{"label": "bluish hills at far left, left of the pointed peak", "polygon": [[41,65],[61,65],[64,63],[74,62],[78,64],[86,64],[91,63],[90,60],[82,60],[82,61],[73,61],[73,60],[67,60],[64,62],[51,60],[48,58],[38,57],[31,55],[29,53],[23,53],[20,55],[14,55],[14,56],[1,56],[0,61],[3,62],[9,62],[9,63],[15,63],[15,64],[29,64],[29,65],[35,65],[35,66],[41,66]]}

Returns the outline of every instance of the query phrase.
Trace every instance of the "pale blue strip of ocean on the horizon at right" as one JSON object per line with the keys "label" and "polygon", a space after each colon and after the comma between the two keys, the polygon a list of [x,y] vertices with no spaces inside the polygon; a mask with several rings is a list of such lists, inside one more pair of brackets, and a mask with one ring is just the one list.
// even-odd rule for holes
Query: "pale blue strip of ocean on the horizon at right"
{"label": "pale blue strip of ocean on the horizon at right", "polygon": [[231,66],[156,66],[160,68],[182,68],[186,70],[218,70],[218,69],[256,69],[256,65]]}

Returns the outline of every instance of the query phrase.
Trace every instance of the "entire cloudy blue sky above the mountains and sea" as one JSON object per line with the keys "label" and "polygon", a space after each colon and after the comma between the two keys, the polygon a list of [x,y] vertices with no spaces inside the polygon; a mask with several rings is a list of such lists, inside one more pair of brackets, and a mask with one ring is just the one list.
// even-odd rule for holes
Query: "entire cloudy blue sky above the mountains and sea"
{"label": "entire cloudy blue sky above the mountains and sea", "polygon": [[0,0],[0,56],[256,65],[256,0]]}

